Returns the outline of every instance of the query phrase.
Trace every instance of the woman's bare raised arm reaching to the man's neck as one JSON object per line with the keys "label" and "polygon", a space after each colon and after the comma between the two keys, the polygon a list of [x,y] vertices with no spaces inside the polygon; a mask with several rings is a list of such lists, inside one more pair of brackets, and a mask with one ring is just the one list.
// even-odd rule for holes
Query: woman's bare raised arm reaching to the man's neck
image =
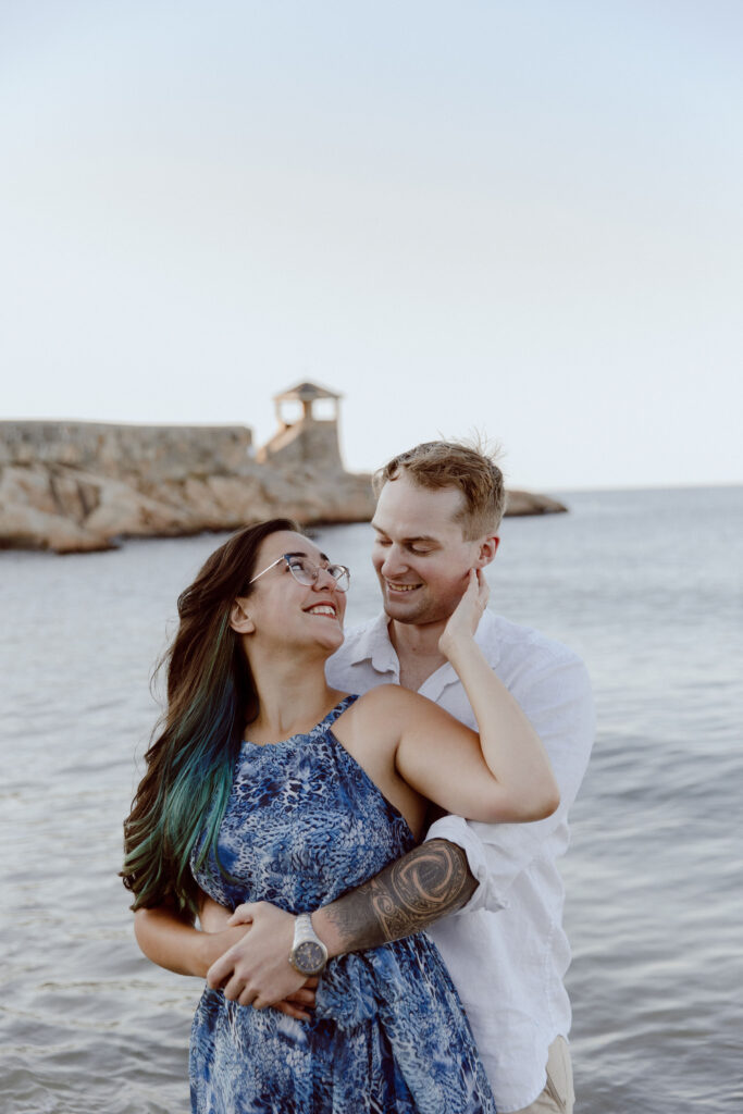
{"label": "woman's bare raised arm reaching to the man's neck", "polygon": [[[392,686],[374,693],[398,716],[395,768],[419,793],[470,820],[541,820],[557,809],[559,791],[539,736],[475,641],[487,600],[485,578],[472,570],[439,642],[462,682],[479,736],[416,693]],[[378,716],[382,709],[370,711]]]}

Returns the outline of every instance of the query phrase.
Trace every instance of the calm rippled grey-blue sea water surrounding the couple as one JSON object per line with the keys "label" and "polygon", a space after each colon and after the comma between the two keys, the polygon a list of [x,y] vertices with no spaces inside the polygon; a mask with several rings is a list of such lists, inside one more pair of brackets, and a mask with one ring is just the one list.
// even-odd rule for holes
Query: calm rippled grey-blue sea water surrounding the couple
{"label": "calm rippled grey-blue sea water surrounding the couple", "polygon": [[[490,584],[596,690],[564,860],[577,1111],[741,1112],[743,488],[564,498],[507,520]],[[369,527],[320,532],[374,614]],[[0,554],[3,1114],[188,1110],[199,986],[140,957],[116,874],[149,673],[218,540]]]}

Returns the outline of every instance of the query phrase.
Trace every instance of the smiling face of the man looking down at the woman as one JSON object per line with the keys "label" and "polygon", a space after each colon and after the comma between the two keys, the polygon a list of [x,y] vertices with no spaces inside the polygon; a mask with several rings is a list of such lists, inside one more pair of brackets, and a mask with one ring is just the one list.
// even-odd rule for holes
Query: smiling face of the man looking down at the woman
{"label": "smiling face of the man looking down at the woman", "polygon": [[447,619],[469,570],[492,560],[497,540],[488,548],[483,539],[465,539],[456,520],[462,501],[457,488],[432,491],[404,471],[382,488],[372,519],[372,564],[390,618],[416,626]]}

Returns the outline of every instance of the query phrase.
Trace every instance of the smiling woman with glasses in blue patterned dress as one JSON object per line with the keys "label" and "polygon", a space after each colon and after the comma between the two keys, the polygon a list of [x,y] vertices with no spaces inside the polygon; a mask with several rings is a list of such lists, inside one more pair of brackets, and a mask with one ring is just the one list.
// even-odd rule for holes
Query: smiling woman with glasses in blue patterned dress
{"label": "smiling woman with glasses in blue patterned dress", "polygon": [[[348,578],[294,524],[274,519],[217,549],[180,596],[165,724],[125,825],[134,909],[193,920],[208,895],[232,909],[266,900],[304,915],[410,850],[429,800],[490,822],[556,808],[541,744],[473,641],[487,600],[478,575],[441,651],[479,737],[398,686],[358,700],[327,687]],[[311,973],[323,956],[307,920],[297,918],[292,961]],[[205,989],[190,1081],[197,1112],[495,1110],[423,935],[331,960],[303,1024]]]}

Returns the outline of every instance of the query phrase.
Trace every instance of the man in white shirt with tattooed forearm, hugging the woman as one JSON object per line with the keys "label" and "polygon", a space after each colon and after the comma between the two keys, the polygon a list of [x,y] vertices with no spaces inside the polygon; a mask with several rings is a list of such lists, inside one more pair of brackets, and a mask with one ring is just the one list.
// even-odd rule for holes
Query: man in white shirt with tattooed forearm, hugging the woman
{"label": "man in white shirt with tattooed forearm, hugging the woman", "polygon": [[[473,449],[437,441],[395,457],[375,487],[372,560],[384,613],[346,635],[329,662],[330,684],[355,693],[401,684],[477,730],[438,642],[469,570],[496,556],[500,470]],[[590,690],[579,658],[535,631],[486,612],[476,637],[541,737],[558,810],[528,824],[442,817],[421,847],[315,910],[311,931],[332,957],[427,929],[467,1009],[498,1110],[569,1114],[569,948],[556,859],[590,753]],[[287,961],[295,919],[265,902],[241,908],[252,929],[212,965],[211,985],[229,979],[228,997],[260,1007],[291,998],[282,1008],[300,1015],[312,995],[297,989],[303,976]]]}

